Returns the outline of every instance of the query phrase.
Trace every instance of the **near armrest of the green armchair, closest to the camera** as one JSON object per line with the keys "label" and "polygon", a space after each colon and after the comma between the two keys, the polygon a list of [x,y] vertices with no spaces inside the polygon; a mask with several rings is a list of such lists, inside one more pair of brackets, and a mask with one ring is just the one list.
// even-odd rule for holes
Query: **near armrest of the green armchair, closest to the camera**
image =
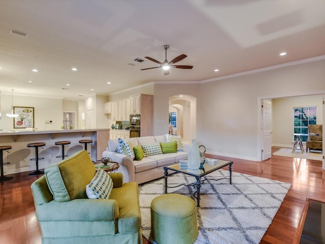
{"label": "near armrest of the green armchair, closest to the camera", "polygon": [[36,205],[38,221],[116,221],[118,203],[114,199],[73,199]]}

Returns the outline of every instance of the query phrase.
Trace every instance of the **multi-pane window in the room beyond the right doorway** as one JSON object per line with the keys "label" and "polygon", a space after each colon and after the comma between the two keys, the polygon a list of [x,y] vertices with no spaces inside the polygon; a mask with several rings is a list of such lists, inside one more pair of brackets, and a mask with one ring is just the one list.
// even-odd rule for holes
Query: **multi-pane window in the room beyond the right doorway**
{"label": "multi-pane window in the room beyond the right doorway", "polygon": [[[308,125],[316,125],[316,107],[294,108],[294,133],[308,134]],[[308,136],[302,136],[301,140],[307,141]]]}

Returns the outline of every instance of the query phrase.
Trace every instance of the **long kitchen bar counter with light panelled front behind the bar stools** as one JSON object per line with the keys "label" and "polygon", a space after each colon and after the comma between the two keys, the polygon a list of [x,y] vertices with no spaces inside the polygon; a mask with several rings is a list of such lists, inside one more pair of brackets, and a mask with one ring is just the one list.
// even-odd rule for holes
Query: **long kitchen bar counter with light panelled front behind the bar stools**
{"label": "long kitchen bar counter with light panelled front behind the bar stools", "polygon": [[5,174],[19,173],[36,169],[34,148],[28,148],[28,143],[45,142],[46,145],[40,148],[39,157],[44,158],[39,161],[39,168],[59,162],[61,146],[55,145],[56,141],[71,141],[66,147],[66,155],[70,156],[79,150],[84,149],[84,144],[79,140],[91,139],[91,147],[88,146],[92,161],[102,158],[103,151],[108,146],[110,129],[84,129],[84,130],[47,130],[47,131],[14,131],[0,132],[0,145],[10,145],[12,149],[9,153],[4,151],[4,162],[10,162],[4,166]]}

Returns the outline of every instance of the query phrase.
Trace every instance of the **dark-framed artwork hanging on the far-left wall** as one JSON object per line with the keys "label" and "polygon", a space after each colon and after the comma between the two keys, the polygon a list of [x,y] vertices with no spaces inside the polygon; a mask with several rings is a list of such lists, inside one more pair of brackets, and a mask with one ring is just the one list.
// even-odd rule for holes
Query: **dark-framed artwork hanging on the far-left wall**
{"label": "dark-framed artwork hanging on the far-left wall", "polygon": [[14,129],[34,127],[34,108],[14,107],[18,117],[14,117]]}

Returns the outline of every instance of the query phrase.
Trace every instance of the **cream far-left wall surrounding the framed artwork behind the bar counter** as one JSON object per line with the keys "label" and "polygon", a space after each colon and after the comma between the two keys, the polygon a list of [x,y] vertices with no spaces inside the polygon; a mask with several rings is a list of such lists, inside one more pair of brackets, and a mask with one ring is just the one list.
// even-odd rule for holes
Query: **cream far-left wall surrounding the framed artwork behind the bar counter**
{"label": "cream far-left wall surrounding the framed artwork behind the bar counter", "polygon": [[[13,118],[6,116],[11,110],[12,96],[1,95],[1,114],[0,129],[10,131],[14,129]],[[62,99],[28,97],[14,94],[14,106],[34,107],[34,127],[39,130],[60,129],[62,124]],[[45,124],[45,120],[52,120],[52,124]],[[25,129],[16,129],[25,130]]]}

